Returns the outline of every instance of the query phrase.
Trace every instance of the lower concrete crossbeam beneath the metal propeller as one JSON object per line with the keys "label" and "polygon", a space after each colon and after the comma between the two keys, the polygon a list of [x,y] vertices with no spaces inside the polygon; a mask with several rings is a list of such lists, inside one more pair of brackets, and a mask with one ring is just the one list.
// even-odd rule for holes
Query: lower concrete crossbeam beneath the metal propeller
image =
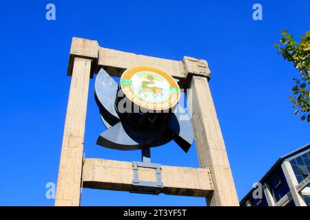
{"label": "lower concrete crossbeam beneath the metal propeller", "polygon": [[[144,181],[156,181],[152,168],[138,168],[138,177]],[[162,166],[163,193],[207,197],[213,192],[209,168]],[[83,164],[83,188],[104,190],[132,190],[134,170],[131,162],[110,159],[85,159]]]}

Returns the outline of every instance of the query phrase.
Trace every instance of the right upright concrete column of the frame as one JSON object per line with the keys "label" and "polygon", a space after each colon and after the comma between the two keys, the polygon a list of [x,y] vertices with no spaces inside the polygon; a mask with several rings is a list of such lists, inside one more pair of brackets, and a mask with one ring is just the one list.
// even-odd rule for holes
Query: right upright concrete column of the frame
{"label": "right upright concrete column of the frame", "polygon": [[214,193],[207,199],[207,203],[209,206],[239,206],[207,78],[192,76],[189,89],[192,90],[187,93],[187,106],[192,114],[199,165],[211,168],[214,182]]}

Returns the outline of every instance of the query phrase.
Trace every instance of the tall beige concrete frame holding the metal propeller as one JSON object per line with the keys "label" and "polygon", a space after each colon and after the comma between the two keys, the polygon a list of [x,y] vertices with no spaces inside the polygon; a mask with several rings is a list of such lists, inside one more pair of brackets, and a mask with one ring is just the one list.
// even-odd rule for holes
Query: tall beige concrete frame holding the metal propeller
{"label": "tall beige concrete frame holding the metal propeller", "polygon": [[[72,76],[59,164],[55,206],[79,206],[81,187],[106,190],[132,188],[130,162],[83,159],[83,142],[90,78],[100,68],[121,76],[135,65],[151,65],[178,78],[183,89],[192,89],[194,137],[200,168],[162,166],[163,193],[206,197],[209,206],[238,206],[227,152],[220,131],[208,80],[207,61],[185,56],[183,61],[143,56],[100,47],[97,41],[73,38],[68,65]],[[139,168],[139,178],[154,181],[151,168]],[[83,181],[83,184],[82,184]]]}

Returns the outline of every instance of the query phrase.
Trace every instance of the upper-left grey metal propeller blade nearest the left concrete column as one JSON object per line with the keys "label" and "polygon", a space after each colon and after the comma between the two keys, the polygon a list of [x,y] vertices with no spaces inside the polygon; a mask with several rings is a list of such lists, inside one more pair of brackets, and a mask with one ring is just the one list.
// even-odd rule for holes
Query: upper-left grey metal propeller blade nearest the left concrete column
{"label": "upper-left grey metal propeller blade nearest the left concrete column", "polygon": [[94,96],[107,129],[120,120],[114,107],[117,87],[118,84],[114,79],[104,69],[100,69],[96,76]]}

